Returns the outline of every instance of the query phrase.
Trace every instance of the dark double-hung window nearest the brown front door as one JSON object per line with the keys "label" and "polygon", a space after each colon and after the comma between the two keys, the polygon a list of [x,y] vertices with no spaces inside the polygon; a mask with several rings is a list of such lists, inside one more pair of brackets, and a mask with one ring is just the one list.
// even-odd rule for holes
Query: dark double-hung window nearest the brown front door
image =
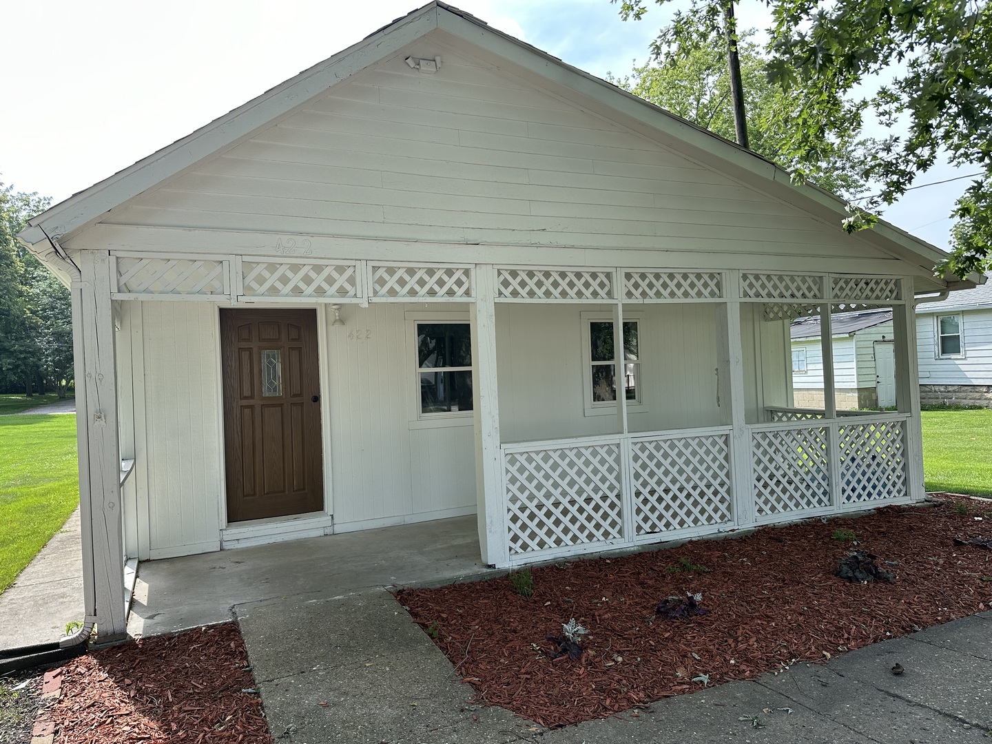
{"label": "dark double-hung window nearest the brown front door", "polygon": [[466,322],[417,323],[421,417],[472,410],[472,339]]}

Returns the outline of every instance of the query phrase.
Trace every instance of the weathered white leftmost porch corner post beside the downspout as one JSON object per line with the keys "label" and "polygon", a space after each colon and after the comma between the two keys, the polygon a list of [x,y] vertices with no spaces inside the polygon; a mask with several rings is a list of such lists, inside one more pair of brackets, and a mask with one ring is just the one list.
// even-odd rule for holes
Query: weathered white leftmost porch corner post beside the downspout
{"label": "weathered white leftmost porch corner post beside the downspout", "polygon": [[84,391],[76,420],[80,443],[85,439],[85,446],[79,448],[79,503],[82,518],[92,525],[96,624],[101,642],[117,640],[127,632],[110,267],[106,251],[80,252],[79,317],[73,323],[84,376],[76,380],[76,387]]}

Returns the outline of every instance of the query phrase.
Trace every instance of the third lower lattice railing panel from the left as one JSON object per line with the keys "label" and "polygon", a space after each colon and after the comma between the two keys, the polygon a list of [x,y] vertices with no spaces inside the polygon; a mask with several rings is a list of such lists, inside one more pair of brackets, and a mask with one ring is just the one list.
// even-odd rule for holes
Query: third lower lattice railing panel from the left
{"label": "third lower lattice railing panel from the left", "polygon": [[829,506],[825,429],[755,432],[751,438],[758,517]]}

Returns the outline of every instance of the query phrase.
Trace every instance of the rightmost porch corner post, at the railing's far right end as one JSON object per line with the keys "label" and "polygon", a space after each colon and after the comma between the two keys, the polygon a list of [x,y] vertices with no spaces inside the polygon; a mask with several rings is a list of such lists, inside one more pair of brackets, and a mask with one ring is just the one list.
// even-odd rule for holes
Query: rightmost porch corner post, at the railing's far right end
{"label": "rightmost porch corner post, at the railing's far right end", "polygon": [[906,422],[906,492],[914,500],[927,495],[924,485],[924,434],[920,416],[920,360],[917,358],[917,309],[913,280],[900,280],[903,305],[892,308],[892,330],[896,337],[896,406],[909,414]]}

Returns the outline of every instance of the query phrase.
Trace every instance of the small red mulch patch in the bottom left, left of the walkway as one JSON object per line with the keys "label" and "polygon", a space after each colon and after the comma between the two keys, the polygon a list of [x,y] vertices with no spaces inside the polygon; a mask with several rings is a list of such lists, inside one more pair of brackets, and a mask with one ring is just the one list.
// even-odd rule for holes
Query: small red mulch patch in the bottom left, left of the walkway
{"label": "small red mulch patch in the bottom left, left of the walkway", "polygon": [[56,741],[270,744],[235,623],[145,638],[63,668]]}

